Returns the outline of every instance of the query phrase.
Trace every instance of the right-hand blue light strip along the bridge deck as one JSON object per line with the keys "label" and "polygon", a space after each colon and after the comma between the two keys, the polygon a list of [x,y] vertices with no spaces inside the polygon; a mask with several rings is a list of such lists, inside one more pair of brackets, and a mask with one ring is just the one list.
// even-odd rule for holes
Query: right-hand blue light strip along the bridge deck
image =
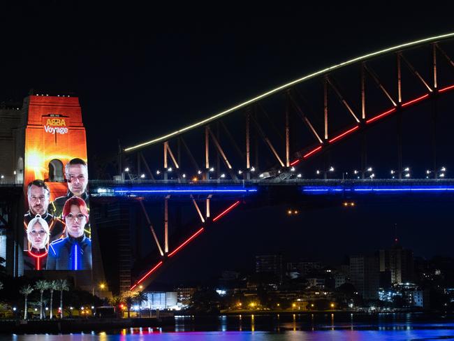
{"label": "right-hand blue light strip along the bridge deck", "polygon": [[302,188],[303,192],[314,193],[314,194],[329,194],[330,192],[446,192],[454,191],[454,186],[439,186],[439,187],[316,187],[307,186]]}

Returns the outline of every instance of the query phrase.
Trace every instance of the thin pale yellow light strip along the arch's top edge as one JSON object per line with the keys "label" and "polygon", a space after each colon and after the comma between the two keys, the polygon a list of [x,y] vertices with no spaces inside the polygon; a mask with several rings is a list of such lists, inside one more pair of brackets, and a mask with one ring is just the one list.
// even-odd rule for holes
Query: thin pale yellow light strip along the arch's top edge
{"label": "thin pale yellow light strip along the arch's top edge", "polygon": [[191,124],[189,126],[185,126],[184,128],[182,128],[180,130],[173,131],[173,133],[168,133],[168,134],[166,134],[164,136],[161,136],[159,138],[154,138],[154,140],[149,140],[147,142],[140,143],[138,145],[134,145],[132,147],[125,148],[124,151],[125,152],[131,152],[132,150],[136,150],[138,148],[145,147],[147,145],[153,145],[154,143],[159,143],[161,141],[168,140],[168,138],[180,135],[180,133],[184,133],[184,131],[189,131],[189,130],[191,130],[193,128],[196,128],[198,126],[202,126],[204,124],[210,123],[210,122],[214,121],[215,119],[218,119],[219,117],[223,117],[223,116],[225,116],[225,115],[227,115],[229,113],[232,113],[235,110],[238,110],[240,108],[244,108],[245,106],[249,106],[249,104],[254,103],[256,101],[260,101],[261,99],[264,99],[265,97],[268,97],[268,96],[270,96],[272,94],[275,94],[276,92],[279,92],[279,91],[281,91],[283,89],[291,87],[291,86],[293,86],[295,84],[298,84],[300,82],[304,82],[305,80],[309,80],[311,78],[314,78],[317,75],[321,75],[323,73],[327,73],[329,71],[333,71],[336,68],[340,68],[342,66],[353,64],[353,63],[356,63],[358,61],[363,61],[365,59],[376,57],[378,55],[383,55],[384,53],[392,52],[392,51],[395,51],[395,50],[400,50],[402,48],[409,48],[409,47],[414,46],[414,45],[419,45],[419,44],[422,44],[422,43],[428,43],[430,41],[437,41],[439,39],[452,38],[452,37],[454,37],[454,33],[442,34],[441,36],[434,36],[434,37],[430,37],[430,38],[424,38],[424,39],[420,39],[418,41],[411,41],[410,43],[404,43],[404,44],[401,44],[401,45],[396,45],[396,46],[393,46],[392,48],[386,48],[384,50],[379,50],[379,51],[376,51],[376,52],[372,52],[372,53],[369,53],[367,55],[363,55],[361,57],[356,57],[356,58],[350,59],[348,61],[344,61],[344,62],[342,62],[340,64],[336,64],[336,65],[330,66],[328,68],[323,68],[323,70],[319,70],[319,71],[316,71],[314,73],[310,73],[309,75],[305,75],[304,77],[298,78],[296,80],[292,80],[291,82],[288,82],[288,83],[286,83],[284,85],[281,85],[280,87],[276,87],[276,88],[274,88],[274,89],[272,89],[272,90],[270,90],[268,92],[264,92],[263,94],[254,97],[252,99],[244,101],[244,102],[238,104],[237,106],[234,106],[232,108],[229,108],[227,110],[222,111],[221,113],[218,113],[216,115],[213,115],[211,117],[203,119],[200,122],[196,122],[196,123]]}

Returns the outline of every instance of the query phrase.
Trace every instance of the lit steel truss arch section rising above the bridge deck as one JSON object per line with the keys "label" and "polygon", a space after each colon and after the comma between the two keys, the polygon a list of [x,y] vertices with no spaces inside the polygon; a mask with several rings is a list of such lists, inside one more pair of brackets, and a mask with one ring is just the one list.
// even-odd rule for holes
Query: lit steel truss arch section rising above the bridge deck
{"label": "lit steel truss arch section rising above the bridge deck", "polygon": [[[213,154],[215,151],[217,159],[221,159],[221,168],[224,168],[224,177],[231,180],[238,180],[241,178],[251,178],[258,177],[258,172],[251,174],[251,168],[257,168],[254,164],[254,161],[251,159],[251,154],[253,154],[252,146],[252,130],[255,129],[255,134],[258,138],[263,141],[265,148],[269,150],[274,164],[268,163],[267,166],[261,170],[274,170],[274,175],[277,170],[285,170],[291,166],[299,164],[305,159],[309,159],[315,154],[320,154],[324,150],[328,149],[331,145],[338,143],[340,140],[343,140],[346,136],[349,136],[351,133],[361,131],[362,129],[367,128],[367,126],[372,126],[376,122],[381,121],[381,119],[389,116],[393,116],[396,113],[400,113],[402,110],[411,108],[417,103],[428,101],[432,99],[437,99],[441,94],[451,92],[454,89],[454,79],[451,80],[441,80],[441,66],[446,64],[449,68],[454,68],[454,62],[449,54],[444,50],[442,44],[446,44],[448,47],[452,45],[452,38],[454,33],[444,34],[441,36],[434,36],[430,38],[420,39],[418,41],[412,41],[409,43],[404,43],[401,45],[396,45],[390,48],[379,50],[376,52],[369,53],[360,57],[349,59],[339,64],[335,64],[328,68],[323,68],[314,73],[310,73],[301,78],[287,82],[284,85],[271,89],[268,92],[264,92],[254,98],[251,98],[247,101],[237,104],[232,108],[207,117],[199,122],[194,122],[189,126],[185,126],[182,129],[173,131],[166,135],[154,138],[152,140],[133,145],[131,147],[124,148],[125,154],[131,152],[141,152],[145,147],[152,145],[163,145],[163,157],[159,159],[163,160],[162,164],[155,165],[148,168],[156,169],[166,169],[173,168],[178,170],[179,174],[175,175],[179,178],[182,178],[182,174],[185,175],[187,168],[184,165],[184,162],[180,161],[180,149],[187,150],[189,153],[196,155],[196,157],[189,158],[191,159],[191,168],[193,168],[192,175],[196,175],[194,172],[198,171],[200,175],[200,180],[209,179],[206,173],[210,168],[213,168],[214,160]],[[451,45],[450,45],[451,44]],[[423,56],[426,63],[421,70],[421,66],[413,66],[411,63],[411,58],[406,55],[411,55],[413,59],[418,59],[418,56],[414,56],[415,51],[423,52]],[[428,58],[430,57],[430,58]],[[383,78],[379,73],[374,71],[372,63],[379,60],[380,58],[391,58],[392,70],[387,72],[387,75],[390,73],[393,74],[391,80],[386,84],[383,82]],[[385,64],[385,62],[383,62]],[[359,70],[358,70],[359,66]],[[354,86],[346,87],[342,89],[337,82],[337,73],[343,73],[347,71],[347,77],[352,78],[352,69],[355,75],[355,78],[358,78],[358,71],[360,73],[359,82],[356,82]],[[389,71],[389,66],[386,66],[387,71]],[[404,72],[408,72],[411,81],[404,79]],[[339,77],[342,75],[339,75]],[[310,94],[314,94],[320,98],[323,98],[323,103],[321,106],[318,106],[318,111],[316,115],[311,115],[311,110],[306,109],[310,107],[305,106],[305,100],[300,100],[300,89],[298,87],[312,82],[309,87],[314,85],[323,85],[321,91],[314,90]],[[381,94],[381,103],[377,105],[374,103],[374,108],[367,108],[367,103],[376,97],[377,94],[372,94],[372,87],[367,87],[367,82],[370,82]],[[359,83],[359,87],[358,87]],[[392,84],[395,89],[390,89]],[[311,89],[309,89],[310,91]],[[371,95],[369,96],[369,93]],[[281,106],[277,110],[278,119],[280,120],[280,126],[273,126],[269,123],[269,112],[265,110],[265,107],[269,104],[267,101],[272,101],[277,97],[282,97],[284,94],[286,103],[285,106]],[[330,96],[328,96],[328,94]],[[337,99],[338,108],[331,106],[332,99],[328,97]],[[354,96],[352,96],[352,94]],[[352,97],[359,99],[357,103],[355,101],[350,101]],[[270,111],[276,111],[276,106],[270,106]],[[342,109],[341,109],[342,108]],[[342,124],[337,124],[337,117],[341,116],[341,111],[344,110],[346,117],[349,117],[347,120],[344,117]],[[242,139],[244,138],[244,148],[238,147],[235,145],[235,140],[237,136],[233,136],[228,131],[227,125],[224,124],[224,119],[230,119],[233,113],[240,113],[241,111],[245,112],[246,119],[244,120],[244,134],[242,133]],[[313,111],[313,110],[312,110]],[[255,113],[254,113],[255,112]],[[262,115],[263,114],[263,115]],[[292,145],[291,143],[291,129],[294,129],[296,124],[291,122],[289,115],[295,115],[300,117],[302,122],[306,126],[306,133],[309,133],[312,138],[312,142],[308,141],[305,145]],[[238,115],[235,115],[238,116]],[[241,115],[240,115],[241,116]],[[344,115],[345,116],[345,115]],[[322,124],[314,123],[317,119],[320,121],[320,118],[323,117]],[[224,136],[228,142],[221,143],[219,140],[219,123],[221,124],[221,130],[224,131]],[[214,124],[217,124],[216,128],[213,127]],[[279,125],[278,124],[278,125]],[[196,129],[203,129],[205,133],[205,145],[198,145],[196,147],[188,147],[184,142],[185,133],[189,133]],[[237,126],[234,127],[237,129]],[[277,131],[278,134],[273,133]],[[283,143],[279,145],[279,137],[281,135],[281,140]],[[233,138],[232,138],[233,137]],[[210,141],[212,145],[210,145]],[[176,147],[171,147],[172,144],[178,144],[179,152],[175,152]],[[230,145],[231,150],[228,151],[227,148]],[[211,152],[210,152],[211,149]],[[161,148],[159,148],[161,150]],[[176,154],[179,156],[177,157]],[[200,155],[203,154],[203,155]],[[239,160],[232,161],[235,157],[232,157],[232,154],[237,154],[240,156]],[[162,154],[161,154],[162,155]],[[200,157],[199,157],[200,156]],[[139,160],[142,158],[138,158]],[[205,159],[203,164],[199,165],[196,162],[193,162],[194,159]],[[262,154],[256,159],[262,159]],[[144,160],[145,161],[145,160]],[[145,161],[146,162],[146,161]],[[186,163],[187,164],[187,163]],[[196,165],[194,165],[196,164]],[[217,162],[219,165],[219,161]],[[140,168],[140,166],[138,167]],[[143,167],[142,167],[143,168]],[[147,168],[147,169],[148,169]],[[198,169],[196,169],[198,168]],[[240,170],[240,173],[237,173],[235,170]],[[233,171],[235,170],[235,171]],[[215,170],[217,171],[217,170]],[[149,172],[149,178],[154,179],[152,171]],[[181,174],[180,174],[181,173]],[[219,170],[219,174],[221,170]],[[239,176],[240,175],[240,176]],[[159,177],[157,177],[159,178]],[[182,179],[184,180],[184,179]]]}

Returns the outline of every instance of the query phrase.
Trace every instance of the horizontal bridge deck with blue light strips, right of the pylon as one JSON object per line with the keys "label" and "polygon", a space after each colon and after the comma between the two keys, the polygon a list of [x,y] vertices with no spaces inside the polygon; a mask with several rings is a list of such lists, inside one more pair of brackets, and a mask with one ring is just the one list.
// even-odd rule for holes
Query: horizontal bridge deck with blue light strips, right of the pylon
{"label": "horizontal bridge deck with blue light strips, right of the pylon", "polygon": [[[454,196],[454,179],[290,179],[281,180],[198,180],[193,182],[180,180],[126,180],[122,182],[90,180],[90,196],[92,197],[136,197],[146,196],[162,198],[171,195],[199,198],[212,195],[214,197],[254,198],[265,196],[284,196],[295,198],[303,196],[309,200],[326,200],[332,198],[364,198],[365,196],[383,197],[415,197]],[[311,196],[312,198],[308,198]],[[318,197],[318,199],[314,198]],[[281,197],[281,200],[285,198]]]}

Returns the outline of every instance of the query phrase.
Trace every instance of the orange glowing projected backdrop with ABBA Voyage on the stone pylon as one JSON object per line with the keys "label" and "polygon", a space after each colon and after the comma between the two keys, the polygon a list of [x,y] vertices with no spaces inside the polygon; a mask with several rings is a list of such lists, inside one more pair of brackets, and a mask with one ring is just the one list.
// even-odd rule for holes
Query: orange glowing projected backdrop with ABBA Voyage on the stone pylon
{"label": "orange glowing projected backdrop with ABBA Voyage on the stone pylon", "polygon": [[53,201],[65,196],[68,190],[63,182],[66,163],[76,157],[87,162],[87,143],[79,99],[29,96],[28,110],[24,189],[33,180],[45,180],[50,187],[50,200]]}

